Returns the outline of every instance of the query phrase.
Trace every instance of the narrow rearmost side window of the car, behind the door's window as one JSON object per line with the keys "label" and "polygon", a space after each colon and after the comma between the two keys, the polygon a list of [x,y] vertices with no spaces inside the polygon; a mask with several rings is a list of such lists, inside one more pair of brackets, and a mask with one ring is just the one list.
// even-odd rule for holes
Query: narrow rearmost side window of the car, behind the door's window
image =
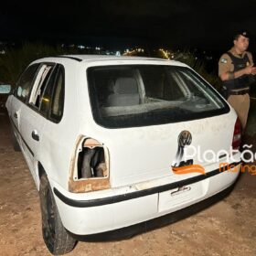
{"label": "narrow rearmost side window of the car, behind the door's window", "polygon": [[55,84],[53,87],[52,102],[50,108],[50,119],[59,122],[64,110],[65,95],[65,72],[63,66],[59,65]]}

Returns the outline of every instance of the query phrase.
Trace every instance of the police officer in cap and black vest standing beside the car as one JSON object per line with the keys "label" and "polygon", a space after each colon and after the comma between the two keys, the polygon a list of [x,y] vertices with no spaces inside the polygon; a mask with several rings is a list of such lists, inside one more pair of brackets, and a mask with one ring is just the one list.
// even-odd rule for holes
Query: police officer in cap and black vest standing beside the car
{"label": "police officer in cap and black vest standing beside the car", "polygon": [[219,59],[219,78],[227,92],[229,104],[237,112],[244,131],[250,108],[250,83],[256,74],[249,47],[248,31],[240,31],[234,37],[234,46]]}

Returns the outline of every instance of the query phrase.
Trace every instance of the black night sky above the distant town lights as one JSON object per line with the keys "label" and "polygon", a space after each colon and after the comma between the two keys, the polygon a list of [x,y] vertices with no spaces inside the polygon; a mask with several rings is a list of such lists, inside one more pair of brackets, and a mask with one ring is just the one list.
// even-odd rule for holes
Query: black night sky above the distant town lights
{"label": "black night sky above the distant town lights", "polygon": [[[237,29],[249,29],[256,37],[256,0],[25,3],[1,4],[0,40],[226,50]],[[255,41],[251,40],[252,51]]]}

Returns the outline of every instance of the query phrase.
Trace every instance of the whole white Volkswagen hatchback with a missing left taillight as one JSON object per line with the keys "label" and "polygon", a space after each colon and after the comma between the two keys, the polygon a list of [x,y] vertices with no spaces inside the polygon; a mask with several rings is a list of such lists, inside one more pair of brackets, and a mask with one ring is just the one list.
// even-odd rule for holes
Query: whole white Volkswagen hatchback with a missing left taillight
{"label": "whole white Volkswagen hatchback with a missing left taillight", "polygon": [[224,191],[240,172],[236,113],[176,61],[38,59],[6,107],[54,254],[84,235],[180,212]]}

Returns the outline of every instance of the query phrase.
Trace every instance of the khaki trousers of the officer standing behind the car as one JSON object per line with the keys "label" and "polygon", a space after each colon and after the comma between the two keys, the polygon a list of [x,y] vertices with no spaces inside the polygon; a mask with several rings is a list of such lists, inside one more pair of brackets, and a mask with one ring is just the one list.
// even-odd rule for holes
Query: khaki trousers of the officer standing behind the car
{"label": "khaki trousers of the officer standing behind the car", "polygon": [[228,98],[229,104],[237,112],[243,132],[245,131],[248,112],[250,108],[250,96],[248,93],[243,95],[230,95]]}

